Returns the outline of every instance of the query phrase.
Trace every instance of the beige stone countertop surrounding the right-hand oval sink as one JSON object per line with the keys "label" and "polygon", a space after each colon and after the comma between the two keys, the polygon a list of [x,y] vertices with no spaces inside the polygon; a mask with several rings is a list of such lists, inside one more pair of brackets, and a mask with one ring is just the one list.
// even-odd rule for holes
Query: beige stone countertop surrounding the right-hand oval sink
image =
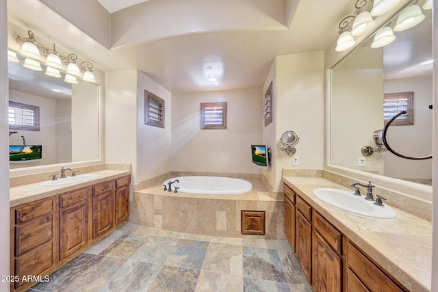
{"label": "beige stone countertop surrounding the right-hand oval sink", "polygon": [[[432,222],[395,208],[397,216],[391,219],[365,217],[337,209],[313,196],[313,189],[348,188],[324,178],[284,176],[283,182],[404,287],[410,291],[430,291]],[[391,202],[387,204],[391,205]]]}

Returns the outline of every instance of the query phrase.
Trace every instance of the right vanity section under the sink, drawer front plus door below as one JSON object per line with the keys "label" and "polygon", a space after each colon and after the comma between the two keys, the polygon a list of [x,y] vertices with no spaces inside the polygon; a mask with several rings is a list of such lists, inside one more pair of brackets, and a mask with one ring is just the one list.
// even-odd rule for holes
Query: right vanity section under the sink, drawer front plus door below
{"label": "right vanity section under the sink, drawer front plus door below", "polygon": [[[342,291],[342,234],[313,210],[313,291]],[[348,290],[357,291],[357,290]]]}

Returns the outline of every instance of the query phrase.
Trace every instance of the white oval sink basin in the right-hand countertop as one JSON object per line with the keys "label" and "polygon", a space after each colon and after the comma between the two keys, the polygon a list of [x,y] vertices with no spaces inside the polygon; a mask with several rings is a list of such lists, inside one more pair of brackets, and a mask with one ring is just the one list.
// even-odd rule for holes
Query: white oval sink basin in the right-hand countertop
{"label": "white oval sink basin in the right-hand countertop", "polygon": [[313,190],[316,198],[344,211],[374,218],[394,218],[397,213],[384,204],[377,206],[374,201],[365,200],[364,196],[355,196],[352,191],[342,189],[320,188]]}

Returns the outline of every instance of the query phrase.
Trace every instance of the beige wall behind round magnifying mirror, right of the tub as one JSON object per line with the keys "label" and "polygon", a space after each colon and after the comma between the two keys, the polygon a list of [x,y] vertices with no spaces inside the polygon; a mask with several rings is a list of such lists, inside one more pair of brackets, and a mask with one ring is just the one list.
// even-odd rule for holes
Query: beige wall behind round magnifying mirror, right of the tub
{"label": "beige wall behind round magnifying mirror, right of the tub", "polygon": [[[323,168],[324,54],[321,51],[281,55],[274,62],[274,126],[266,130],[266,135],[263,133],[264,139],[272,144],[273,167],[265,176],[275,191],[281,191],[284,168]],[[284,147],[280,137],[285,131],[294,131],[300,138],[294,155],[299,157],[299,165],[292,165],[292,157],[280,151]]]}

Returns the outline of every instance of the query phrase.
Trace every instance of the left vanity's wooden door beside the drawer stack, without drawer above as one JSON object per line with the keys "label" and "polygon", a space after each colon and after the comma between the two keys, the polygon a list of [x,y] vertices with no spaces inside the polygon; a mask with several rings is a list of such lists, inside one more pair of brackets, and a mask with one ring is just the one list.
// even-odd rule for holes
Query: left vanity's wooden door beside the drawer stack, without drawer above
{"label": "left vanity's wooden door beside the drawer stack, without drawer above", "polygon": [[60,210],[60,260],[88,243],[88,200]]}

